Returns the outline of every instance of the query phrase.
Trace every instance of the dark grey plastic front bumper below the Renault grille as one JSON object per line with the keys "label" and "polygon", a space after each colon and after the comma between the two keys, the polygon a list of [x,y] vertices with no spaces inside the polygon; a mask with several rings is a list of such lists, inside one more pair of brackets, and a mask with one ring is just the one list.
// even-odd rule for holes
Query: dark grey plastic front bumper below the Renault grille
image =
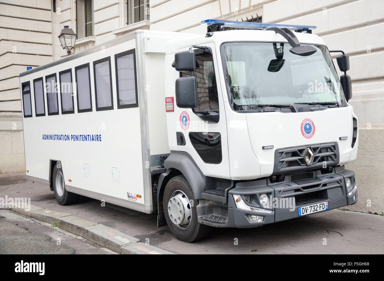
{"label": "dark grey plastic front bumper below the Renault grille", "polygon": [[[349,188],[345,184],[347,177],[351,180]],[[218,205],[213,208],[215,212],[220,212],[222,217],[227,217],[225,224],[215,225],[204,221],[200,223],[218,227],[249,228],[298,218],[299,207],[314,203],[328,202],[328,210],[353,205],[358,200],[357,188],[354,190],[354,187],[356,187],[354,172],[345,170],[344,166],[336,167],[332,173],[324,175],[320,171],[286,175],[285,180],[278,183],[271,183],[266,179],[239,182],[228,192],[228,205],[221,205],[223,210],[219,210]],[[263,206],[259,202],[262,194],[266,194],[269,198],[268,206]],[[271,213],[240,209],[235,204],[233,195],[240,195],[243,200],[250,195],[252,201],[247,205],[252,210],[264,209]],[[249,215],[262,216],[263,221],[252,222]]]}

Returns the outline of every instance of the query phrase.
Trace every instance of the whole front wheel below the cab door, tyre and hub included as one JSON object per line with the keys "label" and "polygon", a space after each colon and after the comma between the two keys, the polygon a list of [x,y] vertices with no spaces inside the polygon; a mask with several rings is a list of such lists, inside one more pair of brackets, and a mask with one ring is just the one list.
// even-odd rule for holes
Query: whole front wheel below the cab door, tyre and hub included
{"label": "whole front wheel below the cab door, tyre and hub included", "polygon": [[179,175],[169,180],[164,190],[164,215],[169,230],[177,239],[194,242],[209,235],[212,228],[202,225],[197,220],[197,200],[184,176]]}

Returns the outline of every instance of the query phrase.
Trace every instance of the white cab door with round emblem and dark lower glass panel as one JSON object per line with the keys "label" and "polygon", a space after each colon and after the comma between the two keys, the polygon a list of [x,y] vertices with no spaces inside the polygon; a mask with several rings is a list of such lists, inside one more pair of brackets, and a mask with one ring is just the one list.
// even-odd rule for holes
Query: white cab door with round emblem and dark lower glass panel
{"label": "white cab door with round emblem and dark lower glass panel", "polygon": [[[197,81],[197,107],[179,108],[175,103],[176,134],[182,134],[185,140],[184,145],[178,141],[177,148],[187,152],[204,175],[230,179],[227,121],[215,46],[214,43],[202,45],[209,48],[192,49],[198,67],[192,72]],[[190,72],[175,71],[175,80],[184,76],[190,76]]]}

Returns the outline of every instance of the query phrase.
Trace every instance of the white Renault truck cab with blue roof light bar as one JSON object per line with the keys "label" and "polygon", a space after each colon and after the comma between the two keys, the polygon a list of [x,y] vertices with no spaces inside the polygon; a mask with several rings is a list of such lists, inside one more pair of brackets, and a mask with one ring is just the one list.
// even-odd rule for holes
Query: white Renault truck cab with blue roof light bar
{"label": "white Renault truck cab with blue roof light bar", "polygon": [[356,203],[348,56],[339,78],[314,26],[202,23],[167,44],[158,224],[191,242]]}

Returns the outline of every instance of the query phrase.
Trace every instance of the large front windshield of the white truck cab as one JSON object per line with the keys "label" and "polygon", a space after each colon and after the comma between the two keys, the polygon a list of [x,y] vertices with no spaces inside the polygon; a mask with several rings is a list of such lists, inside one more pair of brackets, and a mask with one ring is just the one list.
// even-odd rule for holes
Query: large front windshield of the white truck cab
{"label": "large front windshield of the white truck cab", "polygon": [[310,56],[291,53],[288,43],[233,42],[221,46],[228,99],[235,111],[261,105],[344,104],[325,46]]}

